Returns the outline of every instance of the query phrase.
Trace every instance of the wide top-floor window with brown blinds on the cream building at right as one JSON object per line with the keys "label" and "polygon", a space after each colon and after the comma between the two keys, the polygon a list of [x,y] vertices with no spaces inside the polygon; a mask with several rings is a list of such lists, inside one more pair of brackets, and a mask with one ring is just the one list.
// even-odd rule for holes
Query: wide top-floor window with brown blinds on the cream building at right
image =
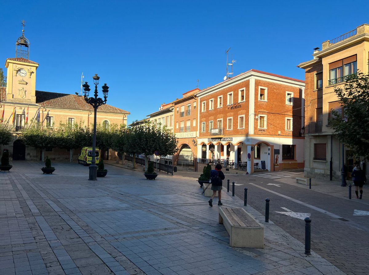
{"label": "wide top-floor window with brown blinds on the cream building at right", "polygon": [[356,55],[330,63],[328,85],[344,82],[348,76],[356,74],[356,71]]}

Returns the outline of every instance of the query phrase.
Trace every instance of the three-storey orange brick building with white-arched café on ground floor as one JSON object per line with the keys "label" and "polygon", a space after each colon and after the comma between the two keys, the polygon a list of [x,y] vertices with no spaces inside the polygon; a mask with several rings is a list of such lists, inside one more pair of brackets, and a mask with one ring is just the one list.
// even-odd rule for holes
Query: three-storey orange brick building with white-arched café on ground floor
{"label": "three-storey orange brick building with white-arched caf\u00e9 on ground floor", "polygon": [[202,90],[198,161],[242,162],[249,173],[304,167],[303,101],[304,81],[258,70]]}

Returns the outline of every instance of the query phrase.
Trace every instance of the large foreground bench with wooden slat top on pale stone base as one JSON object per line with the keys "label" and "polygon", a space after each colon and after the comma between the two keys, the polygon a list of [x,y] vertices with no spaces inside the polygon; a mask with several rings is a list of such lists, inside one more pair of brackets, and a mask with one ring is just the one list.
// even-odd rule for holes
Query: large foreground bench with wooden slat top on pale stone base
{"label": "large foreground bench with wooden slat top on pale stone base", "polygon": [[264,248],[264,226],[243,208],[219,208],[219,223],[230,235],[231,247]]}

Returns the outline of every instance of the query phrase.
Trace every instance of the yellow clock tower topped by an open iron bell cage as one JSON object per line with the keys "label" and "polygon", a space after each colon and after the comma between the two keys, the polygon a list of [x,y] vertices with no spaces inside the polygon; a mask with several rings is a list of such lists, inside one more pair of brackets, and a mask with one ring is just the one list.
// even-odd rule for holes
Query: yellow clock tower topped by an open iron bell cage
{"label": "yellow clock tower topped by an open iron bell cage", "polygon": [[36,103],[36,70],[38,63],[29,60],[30,41],[24,36],[24,21],[22,21],[22,36],[15,43],[15,58],[8,58],[6,99],[8,102]]}

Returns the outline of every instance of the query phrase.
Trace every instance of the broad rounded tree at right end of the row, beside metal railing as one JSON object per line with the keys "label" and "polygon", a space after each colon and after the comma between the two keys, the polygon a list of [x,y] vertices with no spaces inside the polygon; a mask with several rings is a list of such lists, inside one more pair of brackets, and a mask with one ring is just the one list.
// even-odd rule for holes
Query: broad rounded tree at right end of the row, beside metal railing
{"label": "broad rounded tree at right end of the row, beside metal railing", "polygon": [[132,126],[128,131],[125,151],[127,153],[141,153],[145,156],[145,171],[148,169],[148,156],[159,151],[161,156],[172,155],[178,151],[178,140],[174,133],[161,124],[145,122]]}

